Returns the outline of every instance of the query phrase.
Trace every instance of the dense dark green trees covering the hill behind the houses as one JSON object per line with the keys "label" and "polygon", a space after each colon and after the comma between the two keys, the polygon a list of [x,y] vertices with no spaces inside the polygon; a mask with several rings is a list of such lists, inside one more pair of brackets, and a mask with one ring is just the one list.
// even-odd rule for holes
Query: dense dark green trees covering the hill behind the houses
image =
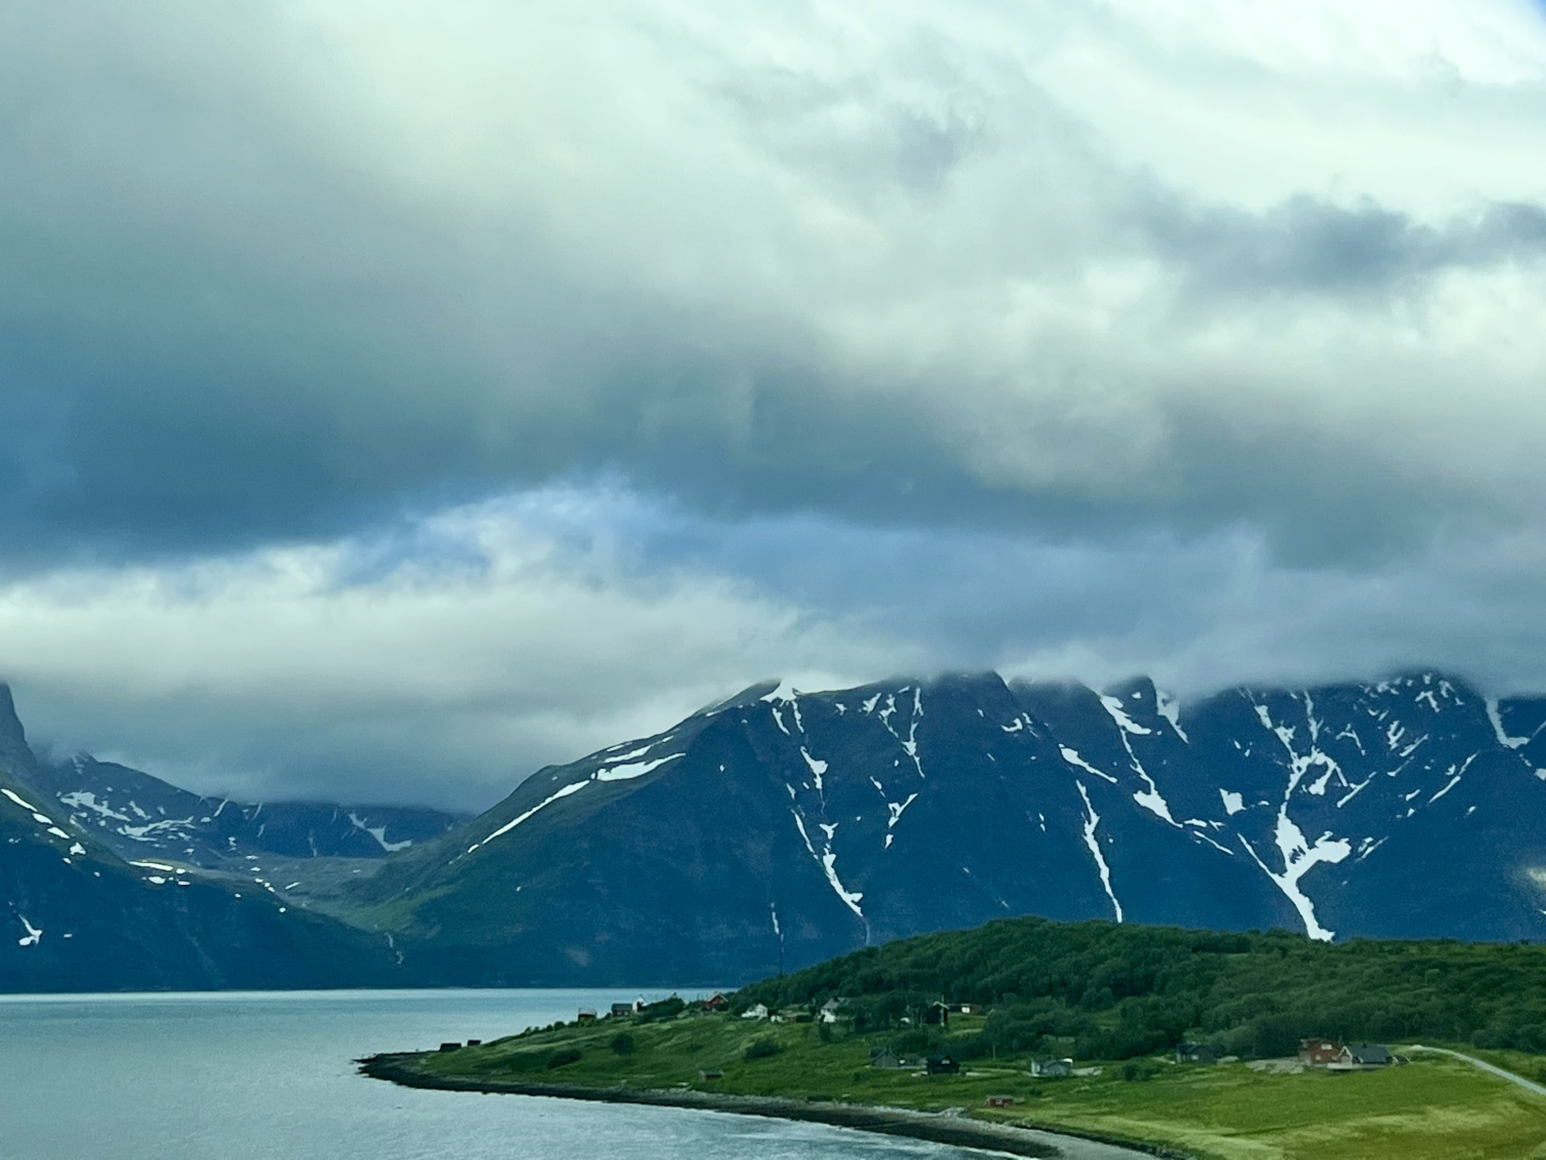
{"label": "dense dark green trees covering the hill behind the houses", "polygon": [[[734,1008],[847,999],[861,1033],[960,1058],[1059,1052],[1122,1059],[1195,1039],[1226,1053],[1291,1053],[1300,1038],[1444,1039],[1546,1052],[1546,947],[1313,942],[1108,922],[1005,919],[870,947],[742,988]],[[934,1001],[979,1002],[986,1025],[920,1025]]]}

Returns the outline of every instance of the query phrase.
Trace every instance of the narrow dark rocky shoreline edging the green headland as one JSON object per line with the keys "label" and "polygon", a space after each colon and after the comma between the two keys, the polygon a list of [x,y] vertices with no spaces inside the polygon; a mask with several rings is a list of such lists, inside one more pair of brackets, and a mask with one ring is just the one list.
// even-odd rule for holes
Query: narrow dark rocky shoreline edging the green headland
{"label": "narrow dark rocky shoreline edging the green headland", "polygon": [[584,1100],[591,1103],[646,1104],[654,1107],[686,1107],[703,1112],[756,1115],[771,1120],[799,1120],[830,1124],[833,1128],[852,1128],[861,1132],[926,1140],[954,1148],[997,1152],[1000,1155],[1044,1157],[1047,1160],[1057,1160],[1059,1157],[1064,1160],[1144,1160],[1144,1157],[1194,1160],[1189,1154],[1170,1148],[1108,1140],[1067,1129],[1022,1128],[986,1120],[971,1120],[965,1115],[917,1112],[904,1107],[812,1103],[771,1095],[699,1092],[691,1087],[586,1087],[581,1084],[532,1083],[527,1080],[475,1080],[430,1075],[411,1066],[411,1061],[427,1058],[428,1055],[433,1053],[396,1052],[371,1055],[356,1059],[356,1063],[360,1066],[362,1075],[400,1084],[402,1087],[529,1095],[553,1100]]}

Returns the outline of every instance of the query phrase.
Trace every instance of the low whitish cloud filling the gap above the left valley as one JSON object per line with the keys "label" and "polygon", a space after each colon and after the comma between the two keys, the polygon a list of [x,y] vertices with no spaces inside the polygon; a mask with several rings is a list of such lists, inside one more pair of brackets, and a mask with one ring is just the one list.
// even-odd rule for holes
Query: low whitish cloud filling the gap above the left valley
{"label": "low whitish cloud filling the gap above the left valley", "polygon": [[190,787],[479,807],[543,763],[767,676],[920,654],[747,583],[643,572],[608,495],[543,492],[396,534],[0,588],[36,735]]}

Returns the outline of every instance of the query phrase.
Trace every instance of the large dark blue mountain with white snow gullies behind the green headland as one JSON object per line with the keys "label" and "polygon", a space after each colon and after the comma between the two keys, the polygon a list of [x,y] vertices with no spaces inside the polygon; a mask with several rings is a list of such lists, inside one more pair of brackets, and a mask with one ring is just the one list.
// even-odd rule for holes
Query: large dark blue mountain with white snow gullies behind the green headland
{"label": "large dark blue mountain with white snow gullies behind the green headland", "polygon": [[770,682],[540,770],[356,900],[461,984],[733,982],[1010,914],[1540,939],[1543,724],[1439,673]]}

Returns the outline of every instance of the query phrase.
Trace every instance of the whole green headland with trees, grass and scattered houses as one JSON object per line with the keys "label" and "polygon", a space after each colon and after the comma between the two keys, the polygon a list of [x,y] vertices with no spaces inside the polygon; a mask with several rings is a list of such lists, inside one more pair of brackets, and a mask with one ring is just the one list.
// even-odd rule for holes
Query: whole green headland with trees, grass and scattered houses
{"label": "whole green headland with trees, grass and scattered houses", "polygon": [[[1105,1141],[1197,1160],[1529,1160],[1546,1157],[1546,1097],[1415,1044],[1541,1078],[1540,974],[1537,947],[1022,919],[866,950],[719,1010],[577,1012],[363,1066],[417,1086],[784,1115],[1020,1155],[1116,1155]],[[1314,1035],[1410,1061],[1306,1066],[1296,1050]],[[1178,1044],[1204,1063],[1178,1061]]]}

